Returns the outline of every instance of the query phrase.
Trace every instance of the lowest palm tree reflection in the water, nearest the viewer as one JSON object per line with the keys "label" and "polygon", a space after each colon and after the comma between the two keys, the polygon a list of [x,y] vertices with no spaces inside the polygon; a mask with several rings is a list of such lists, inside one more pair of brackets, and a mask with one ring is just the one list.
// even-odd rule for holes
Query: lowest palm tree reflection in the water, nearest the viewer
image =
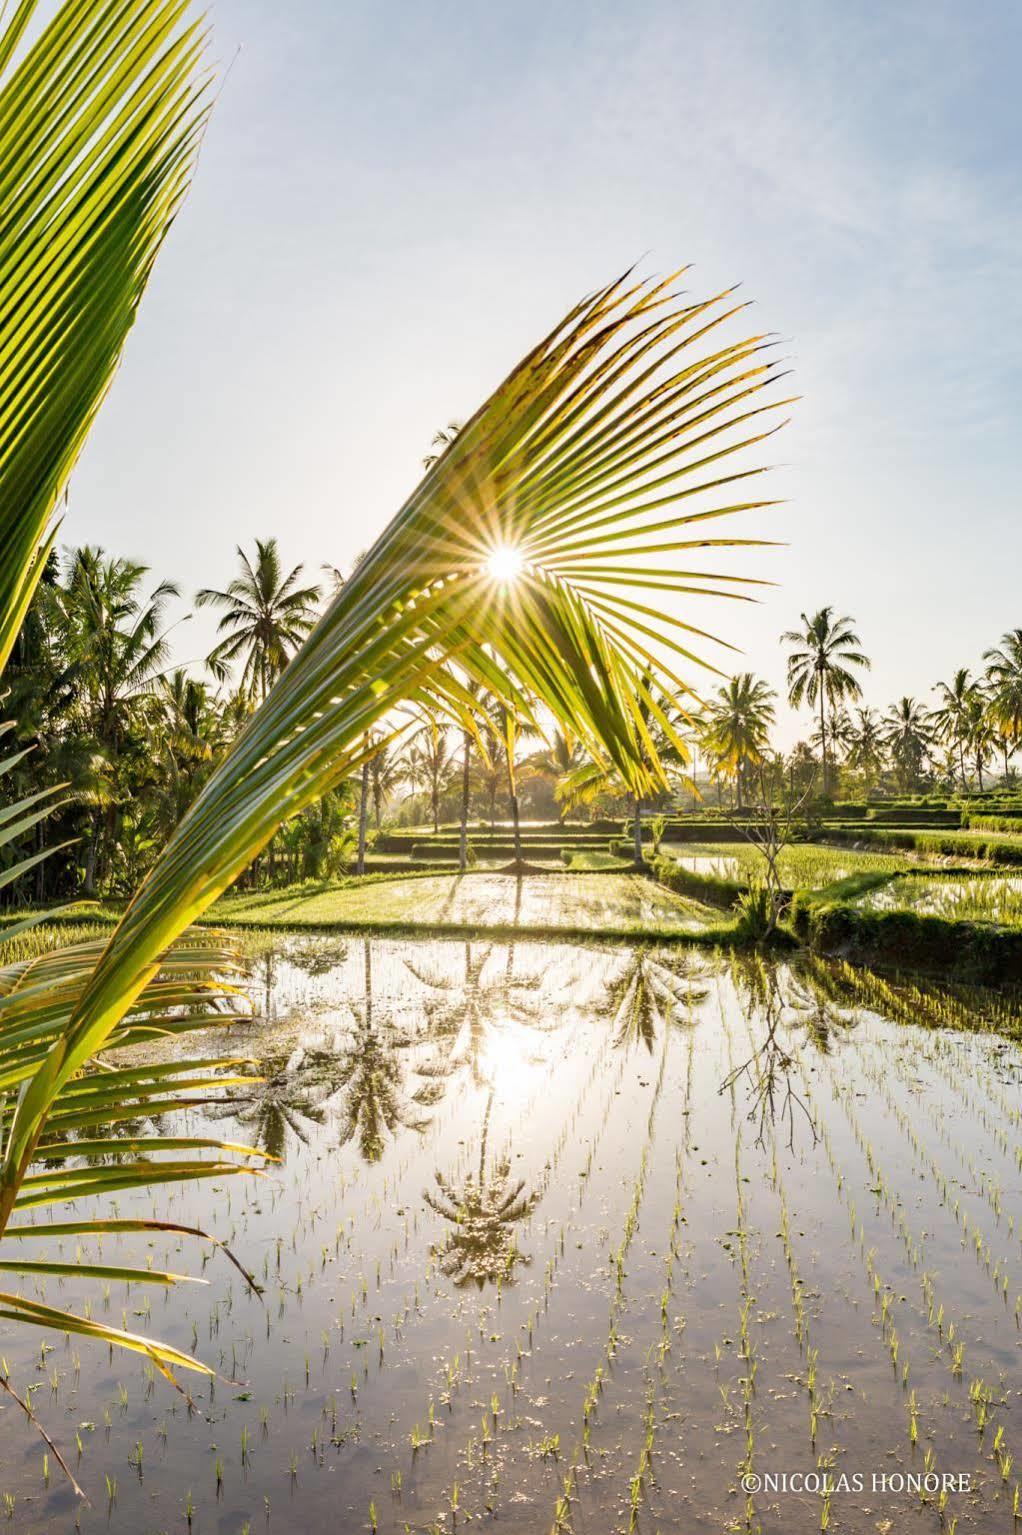
{"label": "lowest palm tree reflection in the water, nearest the viewer", "polygon": [[525,1179],[511,1179],[508,1156],[486,1170],[493,1093],[491,1085],[479,1142],[479,1171],[470,1173],[460,1187],[437,1171],[437,1193],[425,1190],[424,1194],[430,1208],[451,1222],[439,1253],[440,1269],[456,1285],[476,1283],[480,1289],[486,1280],[508,1282],[516,1263],[528,1263],[514,1228],[531,1214],[539,1199],[539,1194],[525,1193]]}

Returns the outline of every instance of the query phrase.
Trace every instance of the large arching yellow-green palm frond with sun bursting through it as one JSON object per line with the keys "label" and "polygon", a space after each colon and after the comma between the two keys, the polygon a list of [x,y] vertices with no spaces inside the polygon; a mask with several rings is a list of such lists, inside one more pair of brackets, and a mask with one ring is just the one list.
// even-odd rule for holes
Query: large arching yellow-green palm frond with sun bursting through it
{"label": "large arching yellow-green palm frond with sun bursting through it", "polygon": [[[655,649],[691,654],[691,626],[663,599],[648,612],[602,580],[611,559],[615,573],[632,569],[629,589],[684,589],[675,554],[755,542],[704,536],[710,519],[769,505],[744,490],[727,497],[757,471],[721,470],[766,434],[772,408],[760,399],[775,378],[763,336],[714,335],[704,348],[738,307],[727,295],[691,304],[668,286],[621,279],[572,309],[466,422],[129,904],[18,1102],[0,1165],[0,1225],[55,1094],[109,1038],[167,946],[282,821],[358,768],[382,715],[447,686],[440,663],[456,659],[497,697],[534,695],[634,789],[661,781],[655,761],[643,764],[638,682]],[[490,569],[505,545],[523,562],[506,586]],[[655,576],[645,574],[651,554]],[[703,585],[726,591],[726,582]],[[671,674],[663,660],[658,671]]]}

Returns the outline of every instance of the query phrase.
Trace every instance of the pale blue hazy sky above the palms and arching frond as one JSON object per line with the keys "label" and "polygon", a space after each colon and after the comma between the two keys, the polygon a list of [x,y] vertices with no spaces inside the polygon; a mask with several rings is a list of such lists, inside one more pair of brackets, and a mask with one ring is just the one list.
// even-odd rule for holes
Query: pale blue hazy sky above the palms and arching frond
{"label": "pale blue hazy sky above the palms and arching frond", "polygon": [[[192,596],[233,546],[344,566],[583,292],[732,281],[803,394],[758,517],[780,583],[695,620],[781,686],[803,608],[870,701],[1022,625],[1022,9],[219,0],[236,57],[64,533]],[[203,614],[183,660],[210,643]],[[784,721],[792,740],[796,721]],[[804,729],[809,729],[806,721]]]}

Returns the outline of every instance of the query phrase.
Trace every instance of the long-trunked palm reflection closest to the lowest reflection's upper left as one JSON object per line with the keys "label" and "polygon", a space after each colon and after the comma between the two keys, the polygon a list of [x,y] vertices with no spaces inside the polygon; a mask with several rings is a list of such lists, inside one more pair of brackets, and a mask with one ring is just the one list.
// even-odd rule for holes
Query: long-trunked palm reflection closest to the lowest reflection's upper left
{"label": "long-trunked palm reflection closest to the lowest reflection's upper left", "polygon": [[388,1136],[399,1128],[425,1130],[428,1119],[413,1107],[404,1087],[404,1070],[397,1051],[411,1044],[388,1021],[381,1024],[373,1015],[373,950],[371,939],[362,939],[364,999],[351,1005],[356,1028],[348,1048],[339,1059],[339,1076],[345,1084],[344,1117],[339,1142],[353,1141],[367,1162],[379,1162]]}

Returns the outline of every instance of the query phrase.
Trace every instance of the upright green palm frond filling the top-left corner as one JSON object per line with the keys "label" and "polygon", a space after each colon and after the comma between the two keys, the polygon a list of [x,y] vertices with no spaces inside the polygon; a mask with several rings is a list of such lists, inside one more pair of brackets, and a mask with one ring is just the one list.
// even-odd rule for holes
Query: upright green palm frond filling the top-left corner
{"label": "upright green palm frond filling the top-left corner", "polygon": [[0,34],[0,671],[206,114],[187,0],[68,0]]}

